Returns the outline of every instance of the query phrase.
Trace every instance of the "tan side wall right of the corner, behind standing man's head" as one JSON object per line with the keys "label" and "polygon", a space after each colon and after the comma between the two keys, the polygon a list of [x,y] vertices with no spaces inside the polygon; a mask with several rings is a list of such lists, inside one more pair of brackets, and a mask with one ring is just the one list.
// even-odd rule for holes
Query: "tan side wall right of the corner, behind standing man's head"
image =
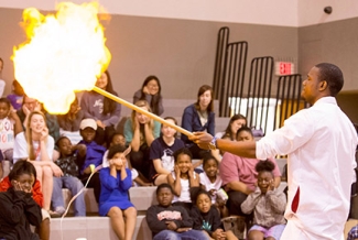
{"label": "tan side wall right of the corner, behind standing man's head", "polygon": [[344,73],[344,91],[358,90],[358,18],[299,29],[300,73],[321,62]]}

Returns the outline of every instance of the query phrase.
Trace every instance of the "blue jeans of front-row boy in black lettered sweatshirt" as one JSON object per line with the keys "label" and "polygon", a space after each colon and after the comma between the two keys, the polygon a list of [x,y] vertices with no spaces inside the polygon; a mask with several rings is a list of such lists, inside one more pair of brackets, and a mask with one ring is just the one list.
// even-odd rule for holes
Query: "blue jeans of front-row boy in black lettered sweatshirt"
{"label": "blue jeans of front-row boy in black lettered sweatshirt", "polygon": [[199,230],[188,230],[176,232],[172,230],[160,231],[153,240],[207,240],[208,237]]}

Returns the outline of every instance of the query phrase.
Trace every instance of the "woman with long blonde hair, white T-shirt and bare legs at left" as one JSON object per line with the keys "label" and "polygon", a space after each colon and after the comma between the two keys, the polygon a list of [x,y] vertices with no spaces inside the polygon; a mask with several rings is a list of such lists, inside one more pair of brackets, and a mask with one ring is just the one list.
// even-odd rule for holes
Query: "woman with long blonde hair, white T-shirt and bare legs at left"
{"label": "woman with long blonde hair, white T-shirt and bare legs at left", "polygon": [[28,160],[34,165],[42,186],[43,208],[47,211],[51,206],[53,176],[63,176],[63,172],[52,160],[54,145],[54,139],[48,135],[45,116],[40,111],[32,111],[26,131],[15,137],[13,160]]}

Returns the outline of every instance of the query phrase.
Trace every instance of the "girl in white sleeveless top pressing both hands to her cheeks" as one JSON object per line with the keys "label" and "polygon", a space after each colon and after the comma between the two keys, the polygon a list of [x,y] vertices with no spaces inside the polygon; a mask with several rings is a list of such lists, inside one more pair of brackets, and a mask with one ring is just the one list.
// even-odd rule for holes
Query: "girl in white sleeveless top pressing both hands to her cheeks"
{"label": "girl in white sleeveless top pressing both hands to her cheeks", "polygon": [[191,188],[199,186],[199,176],[194,172],[192,164],[192,153],[183,148],[174,152],[174,171],[167,174],[167,183],[174,190],[174,206],[183,206],[191,211],[192,199]]}

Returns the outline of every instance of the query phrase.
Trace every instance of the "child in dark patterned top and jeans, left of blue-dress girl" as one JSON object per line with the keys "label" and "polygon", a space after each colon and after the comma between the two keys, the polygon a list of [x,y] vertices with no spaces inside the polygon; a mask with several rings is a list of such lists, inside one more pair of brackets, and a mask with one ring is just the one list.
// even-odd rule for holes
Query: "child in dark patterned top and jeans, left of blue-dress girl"
{"label": "child in dark patterned top and jeans, left of blue-dress girl", "polygon": [[[77,155],[86,155],[86,146],[83,144],[72,145],[67,137],[59,137],[56,142],[56,146],[61,153],[59,159],[55,161],[55,164],[59,166],[63,176],[54,176],[54,188],[52,193],[52,207],[54,215],[62,216],[65,212],[65,201],[62,194],[62,188],[68,188],[72,196],[75,196],[84,188],[84,184],[77,178],[78,166]],[[78,195],[74,200],[75,217],[86,216],[85,197],[83,194]]]}

